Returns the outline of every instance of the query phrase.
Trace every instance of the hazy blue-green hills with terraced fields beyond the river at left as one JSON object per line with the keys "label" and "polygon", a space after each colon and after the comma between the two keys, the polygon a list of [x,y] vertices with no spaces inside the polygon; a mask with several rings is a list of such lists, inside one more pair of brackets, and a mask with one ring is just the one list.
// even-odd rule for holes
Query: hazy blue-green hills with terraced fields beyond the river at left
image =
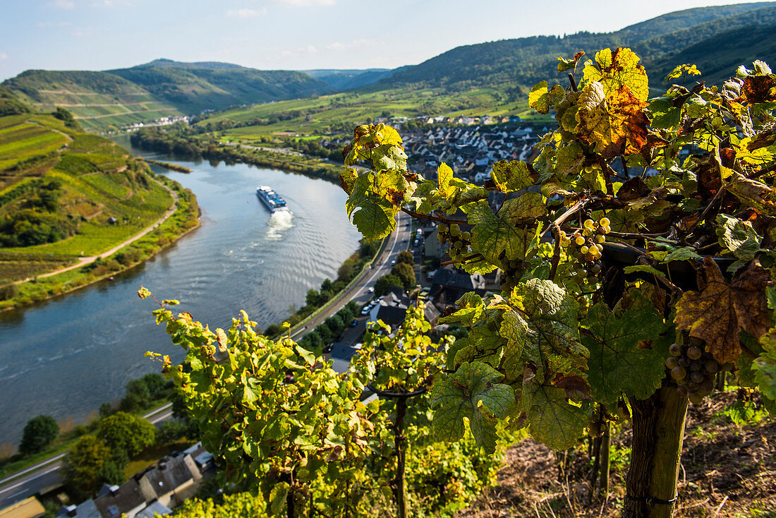
{"label": "hazy blue-green hills with terraced fields beyond the river at left", "polygon": [[333,91],[302,72],[170,60],[113,71],[28,70],[2,85],[38,110],[64,106],[88,130]]}

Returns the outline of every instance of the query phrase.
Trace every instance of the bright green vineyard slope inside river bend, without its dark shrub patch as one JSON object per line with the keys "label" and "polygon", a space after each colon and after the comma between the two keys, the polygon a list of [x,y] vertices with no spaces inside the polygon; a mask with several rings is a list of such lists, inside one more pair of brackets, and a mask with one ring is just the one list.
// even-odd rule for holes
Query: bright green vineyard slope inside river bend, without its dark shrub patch
{"label": "bright green vineyard slope inside river bend, without its dark shrub patch", "polygon": [[[28,162],[9,170],[22,158]],[[4,181],[0,217],[10,217],[26,207],[26,200],[36,192],[36,183],[58,179],[61,196],[57,213],[80,221],[78,233],[59,242],[0,248],[0,284],[56,269],[81,255],[104,252],[156,220],[172,202],[161,186],[153,182],[144,186],[138,181],[144,173],[132,171],[142,171],[145,166],[123,148],[65,127],[52,116],[0,118],[0,164],[0,179]],[[23,190],[29,185],[32,191]],[[14,196],[17,189],[19,194]],[[109,217],[120,223],[109,224]]]}

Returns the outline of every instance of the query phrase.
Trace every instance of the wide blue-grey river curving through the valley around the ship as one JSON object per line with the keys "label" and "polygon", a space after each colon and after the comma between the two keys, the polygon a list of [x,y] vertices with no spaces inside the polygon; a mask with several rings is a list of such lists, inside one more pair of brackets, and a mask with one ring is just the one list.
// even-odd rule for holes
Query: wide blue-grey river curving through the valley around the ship
{"label": "wide blue-grey river curving through the valley around the ship", "polygon": [[[358,247],[346,195],[333,183],[244,164],[175,163],[193,170],[165,174],[196,194],[201,228],[112,282],[0,313],[0,443],[17,443],[39,414],[85,421],[120,398],[127,381],[158,371],[147,350],[182,360],[182,349],[154,325],[154,302],[137,297],[140,285],[159,300],[178,299],[175,311],[211,329],[228,327],[241,309],[263,329],[336,278]],[[259,185],[283,196],[290,214],[270,215],[255,196]]]}

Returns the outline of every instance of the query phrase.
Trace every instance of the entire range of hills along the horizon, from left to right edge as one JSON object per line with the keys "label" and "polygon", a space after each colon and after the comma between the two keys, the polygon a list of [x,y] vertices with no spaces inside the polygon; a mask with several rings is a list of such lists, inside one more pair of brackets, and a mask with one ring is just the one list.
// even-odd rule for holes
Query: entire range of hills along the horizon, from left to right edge
{"label": "entire range of hills along the horizon, from left to right edge", "polygon": [[776,2],[755,2],[670,12],[612,33],[476,43],[393,70],[260,71],[216,61],[157,59],[110,71],[28,70],[2,85],[33,108],[64,106],[85,128],[104,130],[352,89],[406,92],[433,87],[466,92],[487,87],[515,99],[535,82],[558,78],[558,56],[570,57],[578,50],[593,54],[605,47],[632,47],[650,71],[653,85],[677,63],[698,64],[704,80],[719,82],[754,58],[776,64],[774,29]]}

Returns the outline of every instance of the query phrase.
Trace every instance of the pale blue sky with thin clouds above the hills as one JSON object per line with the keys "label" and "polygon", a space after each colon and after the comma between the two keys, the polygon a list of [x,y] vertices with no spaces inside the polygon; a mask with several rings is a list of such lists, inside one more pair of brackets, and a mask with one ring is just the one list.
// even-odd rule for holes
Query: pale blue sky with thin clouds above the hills
{"label": "pale blue sky with thin clouds above the hills", "polygon": [[0,81],[157,58],[264,70],[395,68],[459,45],[610,32],[709,0],[0,0]]}

